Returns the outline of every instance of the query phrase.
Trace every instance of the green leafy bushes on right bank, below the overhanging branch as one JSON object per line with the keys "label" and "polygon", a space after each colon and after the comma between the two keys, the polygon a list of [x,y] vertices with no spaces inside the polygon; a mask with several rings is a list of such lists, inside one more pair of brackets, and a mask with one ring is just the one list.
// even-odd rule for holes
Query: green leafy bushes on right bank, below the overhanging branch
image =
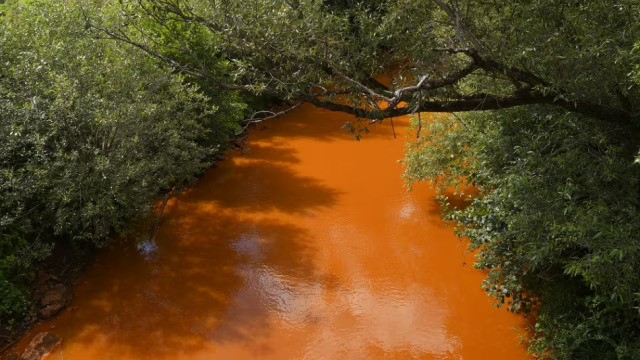
{"label": "green leafy bushes on right bank, below the overhanging branch", "polygon": [[463,209],[443,197],[447,217],[479,250],[487,293],[537,316],[542,357],[640,355],[640,167],[627,141],[530,107],[435,120],[408,151],[409,181],[478,190]]}

